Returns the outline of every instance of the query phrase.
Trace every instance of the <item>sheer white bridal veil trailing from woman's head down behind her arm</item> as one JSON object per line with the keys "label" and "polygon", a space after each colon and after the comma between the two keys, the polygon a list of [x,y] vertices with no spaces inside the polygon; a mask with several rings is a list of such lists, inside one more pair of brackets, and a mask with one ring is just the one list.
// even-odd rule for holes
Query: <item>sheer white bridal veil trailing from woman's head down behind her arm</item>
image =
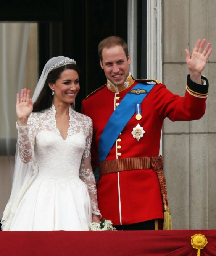
{"label": "sheer white bridal veil trailing from woman's head down behind her arm", "polygon": [[[35,88],[32,101],[35,102],[39,96],[44,84],[47,80],[47,76],[50,71],[58,67],[76,64],[74,59],[69,59],[64,56],[53,57],[44,66],[40,79]],[[16,208],[19,205],[24,193],[35,180],[38,174],[37,164],[33,161],[28,164],[24,164],[19,158],[18,144],[16,144],[16,156],[15,156],[15,169],[13,174],[13,182],[10,199],[3,212],[3,217],[1,220],[2,230],[10,230],[10,226],[16,212]]]}

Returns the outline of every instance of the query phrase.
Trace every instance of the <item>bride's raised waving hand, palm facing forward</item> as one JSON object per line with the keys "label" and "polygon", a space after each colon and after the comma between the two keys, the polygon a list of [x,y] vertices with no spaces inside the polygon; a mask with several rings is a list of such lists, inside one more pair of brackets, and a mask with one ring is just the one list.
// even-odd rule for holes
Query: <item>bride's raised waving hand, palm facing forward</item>
{"label": "bride's raised waving hand, palm facing forward", "polygon": [[28,118],[33,110],[33,102],[30,98],[30,90],[22,89],[20,95],[16,94],[16,115],[18,125],[27,125]]}

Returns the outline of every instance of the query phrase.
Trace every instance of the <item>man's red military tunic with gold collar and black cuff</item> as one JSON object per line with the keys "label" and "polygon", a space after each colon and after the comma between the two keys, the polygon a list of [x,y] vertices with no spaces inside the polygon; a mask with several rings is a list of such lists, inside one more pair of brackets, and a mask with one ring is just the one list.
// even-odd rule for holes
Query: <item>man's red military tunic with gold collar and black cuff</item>
{"label": "man's red military tunic with gold collar and black cuff", "polygon": [[[134,80],[130,75],[118,88],[108,81],[83,100],[82,113],[93,120],[92,167],[97,166],[99,139],[111,114],[136,84],[146,81]],[[136,114],[132,116],[105,161],[158,156],[165,117],[172,121],[189,121],[204,115],[208,94],[207,79],[206,82],[207,85],[198,85],[188,76],[184,97],[172,94],[164,84],[157,82],[141,103],[141,120],[135,118]],[[118,121],[116,120],[117,123]],[[139,141],[131,134],[137,124],[145,130]],[[97,194],[102,218],[112,220],[113,225],[163,219],[160,185],[157,174],[152,169],[104,174],[98,181]]]}

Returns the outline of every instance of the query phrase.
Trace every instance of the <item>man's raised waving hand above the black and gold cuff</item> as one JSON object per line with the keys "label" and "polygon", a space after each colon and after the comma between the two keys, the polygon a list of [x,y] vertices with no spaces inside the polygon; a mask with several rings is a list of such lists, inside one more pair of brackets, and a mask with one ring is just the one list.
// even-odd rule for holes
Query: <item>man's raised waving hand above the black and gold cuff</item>
{"label": "man's raised waving hand above the black and gold cuff", "polygon": [[212,49],[210,48],[211,43],[207,43],[205,49],[203,50],[206,43],[206,39],[202,41],[199,39],[195,44],[192,54],[188,49],[186,52],[186,63],[190,70],[190,77],[194,82],[201,84],[201,72],[205,68],[208,57],[210,56]]}

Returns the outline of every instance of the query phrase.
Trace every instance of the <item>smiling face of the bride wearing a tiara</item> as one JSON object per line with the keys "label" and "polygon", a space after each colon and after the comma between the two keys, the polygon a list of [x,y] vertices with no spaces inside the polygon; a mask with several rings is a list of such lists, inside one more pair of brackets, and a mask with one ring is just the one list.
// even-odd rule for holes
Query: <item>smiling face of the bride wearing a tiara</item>
{"label": "smiling face of the bride wearing a tiara", "polygon": [[74,69],[65,69],[52,86],[55,93],[53,100],[73,103],[80,88],[79,75]]}

